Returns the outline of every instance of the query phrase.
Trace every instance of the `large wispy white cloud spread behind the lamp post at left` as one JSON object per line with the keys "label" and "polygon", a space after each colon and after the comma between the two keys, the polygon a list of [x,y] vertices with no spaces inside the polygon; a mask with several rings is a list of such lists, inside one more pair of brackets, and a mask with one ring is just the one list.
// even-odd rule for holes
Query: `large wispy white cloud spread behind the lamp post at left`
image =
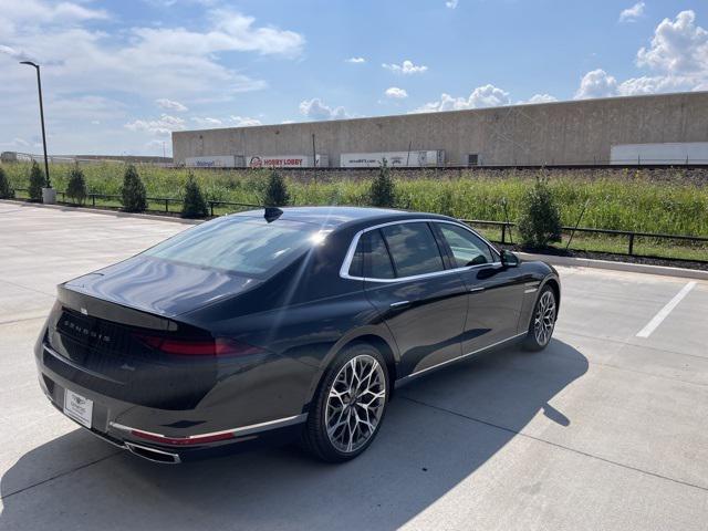
{"label": "large wispy white cloud spread behind the lamp post at left", "polygon": [[[140,153],[153,135],[188,125],[159,113],[175,117],[186,112],[181,106],[226,105],[237,93],[264,88],[243,66],[252,64],[243,54],[290,59],[305,44],[298,32],[215,8],[217,2],[204,3],[184,25],[153,27],[126,25],[87,0],[0,4],[0,143],[35,134],[34,75],[17,64],[33,59],[42,65],[53,153]],[[241,54],[238,63],[229,60],[235,54]],[[159,111],[153,114],[150,106]]]}

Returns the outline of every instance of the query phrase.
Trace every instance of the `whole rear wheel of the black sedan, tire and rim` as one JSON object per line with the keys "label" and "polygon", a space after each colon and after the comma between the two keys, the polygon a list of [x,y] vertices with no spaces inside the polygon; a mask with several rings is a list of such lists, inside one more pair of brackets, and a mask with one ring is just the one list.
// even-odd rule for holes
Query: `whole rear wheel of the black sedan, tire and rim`
{"label": "whole rear wheel of the black sedan, tire and rim", "polygon": [[376,438],[389,387],[386,361],[374,346],[345,348],[320,381],[301,446],[324,461],[354,459]]}

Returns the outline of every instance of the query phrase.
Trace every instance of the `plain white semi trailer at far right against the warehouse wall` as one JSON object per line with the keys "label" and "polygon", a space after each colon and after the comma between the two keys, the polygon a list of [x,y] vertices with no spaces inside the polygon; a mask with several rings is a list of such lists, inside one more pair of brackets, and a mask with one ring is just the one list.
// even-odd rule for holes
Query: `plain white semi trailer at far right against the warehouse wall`
{"label": "plain white semi trailer at far right against the warehouse wall", "polygon": [[708,164],[708,142],[618,144],[610,149],[611,164]]}

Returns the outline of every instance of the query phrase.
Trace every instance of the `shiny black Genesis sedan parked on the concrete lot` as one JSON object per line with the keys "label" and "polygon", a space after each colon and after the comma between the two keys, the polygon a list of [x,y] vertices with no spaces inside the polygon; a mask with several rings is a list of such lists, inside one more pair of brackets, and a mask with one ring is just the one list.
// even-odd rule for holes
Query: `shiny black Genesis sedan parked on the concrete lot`
{"label": "shiny black Genesis sedan parked on the concrete lot", "polygon": [[52,404],[159,462],[300,440],[351,459],[392,391],[513,341],[548,345],[555,270],[466,225],[267,208],[59,285],[35,346]]}

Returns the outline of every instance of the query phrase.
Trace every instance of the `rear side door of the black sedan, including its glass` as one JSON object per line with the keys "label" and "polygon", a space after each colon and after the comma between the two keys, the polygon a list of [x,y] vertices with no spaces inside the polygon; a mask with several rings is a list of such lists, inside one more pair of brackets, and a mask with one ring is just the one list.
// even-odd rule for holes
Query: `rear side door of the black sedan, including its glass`
{"label": "rear side door of the black sedan, including its glass", "polygon": [[446,270],[428,223],[387,225],[364,232],[360,244],[364,289],[398,345],[399,376],[458,357],[467,289]]}

